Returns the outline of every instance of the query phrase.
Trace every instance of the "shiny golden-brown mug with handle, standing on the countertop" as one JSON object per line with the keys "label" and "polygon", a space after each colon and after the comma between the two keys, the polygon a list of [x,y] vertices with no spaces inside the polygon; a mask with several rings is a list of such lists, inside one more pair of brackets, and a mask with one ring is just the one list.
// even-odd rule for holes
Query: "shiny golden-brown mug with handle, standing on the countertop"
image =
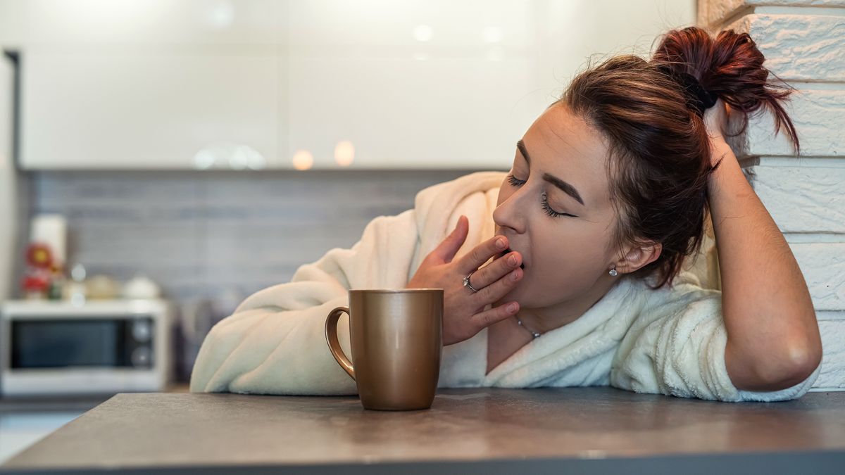
{"label": "shiny golden-brown mug with handle, standing on the countertop", "polygon": [[[349,315],[352,362],[337,338],[337,320]],[[349,307],[325,320],[331,354],[358,389],[365,409],[428,409],[443,352],[443,289],[350,290]]]}

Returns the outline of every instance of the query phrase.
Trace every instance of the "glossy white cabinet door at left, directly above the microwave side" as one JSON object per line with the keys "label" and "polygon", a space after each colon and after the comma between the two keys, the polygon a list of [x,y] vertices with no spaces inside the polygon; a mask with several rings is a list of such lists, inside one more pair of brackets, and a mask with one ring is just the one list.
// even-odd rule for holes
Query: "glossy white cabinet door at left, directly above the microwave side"
{"label": "glossy white cabinet door at left, directly above the microwave side", "polygon": [[272,165],[278,63],[261,54],[30,50],[22,58],[21,165]]}

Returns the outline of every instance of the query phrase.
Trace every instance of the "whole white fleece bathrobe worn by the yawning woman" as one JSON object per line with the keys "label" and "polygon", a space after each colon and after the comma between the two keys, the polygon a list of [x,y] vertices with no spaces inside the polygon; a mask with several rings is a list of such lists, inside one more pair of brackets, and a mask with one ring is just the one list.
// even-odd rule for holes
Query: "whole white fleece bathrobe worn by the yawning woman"
{"label": "whole white fleece bathrobe worn by the yawning woman", "polygon": [[[191,390],[280,395],[355,395],[354,380],[332,358],[324,322],[348,305],[351,288],[401,288],[425,256],[470,221],[458,251],[493,237],[503,172],[476,172],[425,188],[412,210],[379,216],[352,248],[334,248],[297,269],[292,281],[254,293],[212,328],[199,350]],[[612,385],[624,390],[720,401],[778,401],[802,396],[819,369],[775,392],[738,390],[725,366],[722,293],[691,272],[654,291],[622,275],[579,319],[529,342],[490,374],[487,330],[444,347],[439,387]],[[338,323],[347,356],[349,322]]]}

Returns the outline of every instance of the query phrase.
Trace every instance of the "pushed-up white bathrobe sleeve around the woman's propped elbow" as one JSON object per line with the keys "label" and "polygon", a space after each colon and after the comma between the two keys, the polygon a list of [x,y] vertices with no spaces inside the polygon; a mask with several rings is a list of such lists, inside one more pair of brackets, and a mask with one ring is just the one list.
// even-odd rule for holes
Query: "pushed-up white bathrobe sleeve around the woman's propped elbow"
{"label": "pushed-up white bathrobe sleeve around the woman's propped elbow", "polygon": [[689,281],[652,292],[614,355],[610,385],[715,401],[783,401],[803,396],[818,377],[820,368],[785,390],[737,389],[725,365],[722,292]]}

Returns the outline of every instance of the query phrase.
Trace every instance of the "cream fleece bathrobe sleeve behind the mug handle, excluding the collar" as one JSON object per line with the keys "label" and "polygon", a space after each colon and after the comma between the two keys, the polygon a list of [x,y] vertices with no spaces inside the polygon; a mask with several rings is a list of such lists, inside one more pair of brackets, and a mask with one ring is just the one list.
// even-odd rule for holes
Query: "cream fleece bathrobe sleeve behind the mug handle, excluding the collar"
{"label": "cream fleece bathrobe sleeve behind the mug handle, excluding the collar", "polygon": [[[355,381],[324,336],[329,312],[350,288],[405,287],[417,250],[414,210],[379,216],[352,248],[334,248],[300,266],[292,280],[254,293],[205,337],[191,374],[193,392],[354,395]],[[337,325],[351,358],[349,321]]]}

